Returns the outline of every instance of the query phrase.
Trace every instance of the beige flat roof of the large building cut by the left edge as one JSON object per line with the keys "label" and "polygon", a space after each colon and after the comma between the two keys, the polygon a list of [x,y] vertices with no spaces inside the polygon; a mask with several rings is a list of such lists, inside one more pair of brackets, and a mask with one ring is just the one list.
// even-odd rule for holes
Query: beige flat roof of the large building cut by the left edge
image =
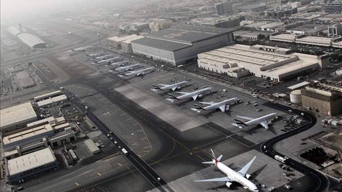
{"label": "beige flat roof of the large building cut by the left edge", "polygon": [[30,102],[2,109],[0,111],[1,128],[32,119],[37,119],[37,115]]}

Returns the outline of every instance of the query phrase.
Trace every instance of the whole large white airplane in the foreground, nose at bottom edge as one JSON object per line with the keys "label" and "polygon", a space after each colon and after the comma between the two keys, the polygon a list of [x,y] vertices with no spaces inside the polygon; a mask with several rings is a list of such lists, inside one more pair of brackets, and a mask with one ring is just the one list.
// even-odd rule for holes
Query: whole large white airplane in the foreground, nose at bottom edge
{"label": "whole large white airplane in the foreground, nose at bottom edge", "polygon": [[212,161],[202,162],[204,164],[214,164],[221,172],[226,174],[226,177],[220,177],[220,178],[213,178],[213,179],[205,179],[205,180],[196,180],[196,182],[205,182],[205,181],[213,181],[213,182],[226,182],[226,186],[228,188],[231,188],[233,186],[232,182],[238,182],[242,186],[244,186],[245,189],[248,189],[252,192],[259,192],[258,187],[252,183],[250,180],[251,175],[247,173],[248,169],[251,167],[252,163],[254,162],[256,156],[247,163],[242,169],[240,169],[238,172],[235,172],[233,169],[229,168],[225,164],[221,163],[222,155],[220,155],[218,158],[216,158],[213,150],[211,150],[211,155],[213,157]]}

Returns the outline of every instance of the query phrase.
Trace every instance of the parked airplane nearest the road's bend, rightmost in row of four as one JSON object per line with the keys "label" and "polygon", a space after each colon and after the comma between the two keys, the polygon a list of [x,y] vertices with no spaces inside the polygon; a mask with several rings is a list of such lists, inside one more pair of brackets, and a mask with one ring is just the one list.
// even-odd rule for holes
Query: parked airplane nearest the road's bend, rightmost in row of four
{"label": "parked airplane nearest the road's bend, rightmost in row of four", "polygon": [[265,129],[268,129],[268,125],[271,124],[271,121],[268,121],[268,120],[273,119],[276,116],[278,116],[278,113],[271,113],[271,114],[268,114],[268,115],[261,116],[259,118],[251,118],[251,117],[247,117],[247,116],[237,116],[239,118],[247,119],[249,121],[242,122],[240,120],[234,119],[236,124],[232,124],[232,125],[237,126],[239,128],[242,128],[242,125],[244,125],[244,126],[251,126],[251,125],[258,125],[258,124],[260,124],[263,127],[265,127]]}

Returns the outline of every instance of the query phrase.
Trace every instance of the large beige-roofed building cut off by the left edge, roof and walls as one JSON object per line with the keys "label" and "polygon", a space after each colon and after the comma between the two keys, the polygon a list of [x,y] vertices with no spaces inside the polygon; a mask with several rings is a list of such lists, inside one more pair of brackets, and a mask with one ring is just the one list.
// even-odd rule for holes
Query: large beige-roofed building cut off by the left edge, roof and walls
{"label": "large beige-roofed building cut off by the left edge, roof and walls", "polygon": [[0,111],[0,130],[6,133],[26,127],[27,123],[37,120],[37,114],[30,102],[1,109]]}

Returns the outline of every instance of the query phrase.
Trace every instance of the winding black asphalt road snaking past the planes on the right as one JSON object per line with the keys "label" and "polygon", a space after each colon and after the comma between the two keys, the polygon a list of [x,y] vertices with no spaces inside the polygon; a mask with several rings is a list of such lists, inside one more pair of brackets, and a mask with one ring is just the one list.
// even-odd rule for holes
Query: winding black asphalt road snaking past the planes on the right
{"label": "winding black asphalt road snaking past the planes on the right", "polygon": [[[279,105],[279,104],[274,104],[272,102],[265,103],[264,105],[266,105],[267,107],[272,107],[272,108],[276,108],[278,110],[284,110],[284,111],[288,111],[289,109],[291,109],[292,113],[294,113],[294,114],[304,113],[305,120],[310,122],[308,124],[303,125],[302,127],[294,129],[293,131],[287,132],[285,134],[279,135],[277,137],[274,137],[272,139],[265,141],[260,146],[260,151],[263,152],[264,154],[272,157],[272,158],[274,158],[274,155],[280,155],[282,157],[286,156],[286,155],[281,154],[277,151],[274,151],[273,146],[275,145],[275,143],[277,143],[281,140],[284,140],[288,137],[291,137],[293,135],[299,134],[303,131],[306,131],[307,129],[310,129],[311,127],[313,127],[317,123],[317,119],[316,119],[315,115],[313,115],[311,113],[307,113],[305,111],[300,111],[300,110],[293,109],[293,108],[283,106],[283,105]],[[263,146],[266,146],[266,149],[264,149]],[[308,186],[308,188],[305,191],[323,192],[329,188],[329,179],[325,175],[318,172],[317,170],[315,170],[311,167],[308,167],[308,166],[306,166],[306,165],[304,165],[298,161],[295,161],[293,159],[288,159],[285,164],[292,167],[295,170],[298,170],[299,172],[301,172],[301,173],[303,173],[303,174],[305,174],[311,178],[311,186]]]}

